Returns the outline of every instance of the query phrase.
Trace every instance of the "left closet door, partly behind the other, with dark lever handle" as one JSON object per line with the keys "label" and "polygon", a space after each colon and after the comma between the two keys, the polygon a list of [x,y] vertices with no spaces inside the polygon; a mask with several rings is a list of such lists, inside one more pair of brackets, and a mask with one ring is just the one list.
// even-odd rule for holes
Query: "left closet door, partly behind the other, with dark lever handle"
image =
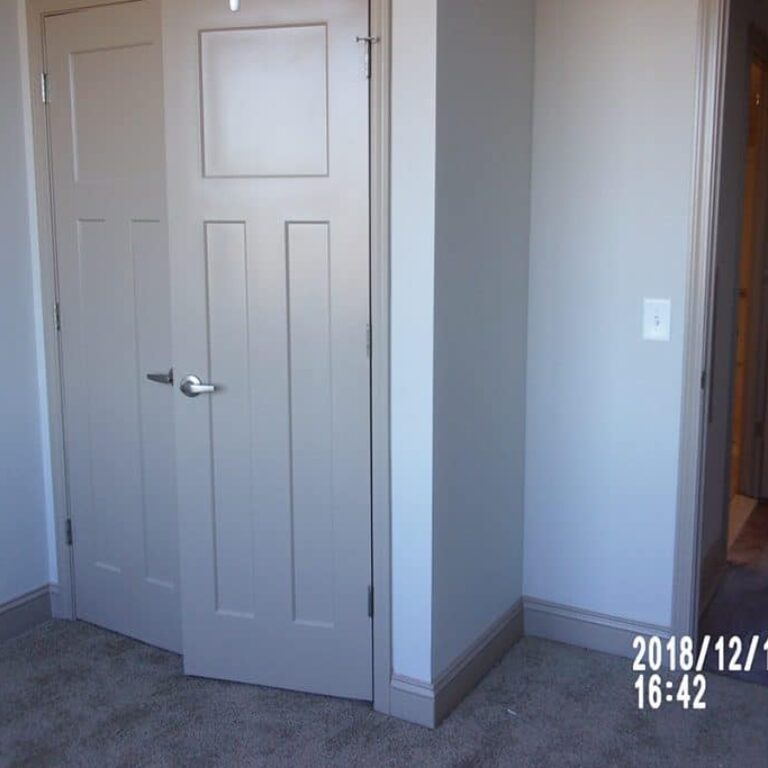
{"label": "left closet door, partly behind the other, with dark lever handle", "polygon": [[179,650],[159,4],[45,42],[77,615]]}

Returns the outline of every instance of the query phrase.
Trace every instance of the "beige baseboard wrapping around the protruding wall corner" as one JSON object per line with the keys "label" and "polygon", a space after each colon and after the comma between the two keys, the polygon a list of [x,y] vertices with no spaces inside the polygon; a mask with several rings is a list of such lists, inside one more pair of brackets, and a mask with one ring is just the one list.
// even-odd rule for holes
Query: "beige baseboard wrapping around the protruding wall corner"
{"label": "beige baseboard wrapping around the protruding wall corner", "polygon": [[436,728],[522,636],[523,603],[518,601],[456,658],[434,683],[393,675],[390,714],[427,728]]}

